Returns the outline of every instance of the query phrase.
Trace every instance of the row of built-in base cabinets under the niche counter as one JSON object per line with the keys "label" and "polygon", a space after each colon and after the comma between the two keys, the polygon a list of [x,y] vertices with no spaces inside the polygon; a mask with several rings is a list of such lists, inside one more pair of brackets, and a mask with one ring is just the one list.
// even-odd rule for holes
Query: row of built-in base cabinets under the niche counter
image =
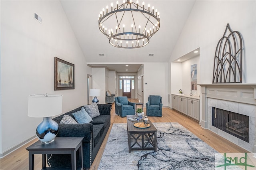
{"label": "row of built-in base cabinets under the niche counter", "polygon": [[172,95],[172,109],[175,109],[199,121],[200,119],[199,98],[188,97],[188,96],[189,95]]}

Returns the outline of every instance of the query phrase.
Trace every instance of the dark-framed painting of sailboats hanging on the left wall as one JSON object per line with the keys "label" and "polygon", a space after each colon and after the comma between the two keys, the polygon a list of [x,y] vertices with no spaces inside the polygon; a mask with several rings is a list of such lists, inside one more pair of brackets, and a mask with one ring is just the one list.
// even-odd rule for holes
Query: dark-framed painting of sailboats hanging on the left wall
{"label": "dark-framed painting of sailboats hanging on the left wall", "polygon": [[75,65],[54,57],[54,90],[75,88]]}

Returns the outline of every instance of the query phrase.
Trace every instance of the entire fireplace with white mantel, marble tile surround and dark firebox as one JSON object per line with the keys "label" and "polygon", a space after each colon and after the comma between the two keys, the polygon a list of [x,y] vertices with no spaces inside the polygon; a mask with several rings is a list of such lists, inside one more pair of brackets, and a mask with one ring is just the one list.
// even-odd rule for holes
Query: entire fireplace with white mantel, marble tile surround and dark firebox
{"label": "entire fireplace with white mantel, marble tile surround and dark firebox", "polygon": [[256,84],[200,86],[200,125],[256,153]]}

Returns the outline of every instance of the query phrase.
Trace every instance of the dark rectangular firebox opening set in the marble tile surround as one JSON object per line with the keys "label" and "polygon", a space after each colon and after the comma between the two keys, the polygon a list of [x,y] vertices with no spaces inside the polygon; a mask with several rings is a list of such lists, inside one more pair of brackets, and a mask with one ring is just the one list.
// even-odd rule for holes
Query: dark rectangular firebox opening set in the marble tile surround
{"label": "dark rectangular firebox opening set in the marble tile surround", "polygon": [[249,142],[249,117],[212,107],[212,126]]}

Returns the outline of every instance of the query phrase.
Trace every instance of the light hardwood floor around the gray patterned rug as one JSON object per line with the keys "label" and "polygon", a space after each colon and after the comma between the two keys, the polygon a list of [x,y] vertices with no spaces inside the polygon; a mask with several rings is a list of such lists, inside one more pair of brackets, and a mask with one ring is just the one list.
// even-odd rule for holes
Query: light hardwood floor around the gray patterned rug
{"label": "light hardwood floor around the gray patterned rug", "polygon": [[[129,101],[138,102],[136,99],[129,99]],[[144,108],[144,112],[146,113],[146,108]],[[229,142],[228,140],[218,136],[214,132],[200,127],[197,121],[194,121],[193,119],[183,115],[182,113],[179,113],[169,108],[163,108],[162,115],[163,117],[149,117],[149,119],[151,122],[178,122],[180,125],[190,130],[190,132],[198,136],[198,138],[202,139],[204,142],[209,144],[212,148],[214,148],[218,152],[221,152],[221,153],[248,152],[247,150],[244,150],[243,148],[240,148],[239,146],[233,144],[232,142]],[[104,148],[106,146],[108,135],[110,133],[113,123],[126,123],[126,117],[119,117],[118,115],[115,114],[114,104],[112,105],[112,110],[111,110],[110,128],[92,164],[92,167],[90,168],[91,170],[98,169],[98,165],[100,164],[100,159],[102,157]],[[15,150],[14,152],[8,154],[4,158],[1,158],[0,170],[28,170],[28,151],[26,150],[26,147],[30,146],[36,141],[37,139],[34,139],[29,143],[27,143],[26,145]],[[42,168],[42,157],[41,155],[35,155],[35,170],[41,170],[41,168]]]}

